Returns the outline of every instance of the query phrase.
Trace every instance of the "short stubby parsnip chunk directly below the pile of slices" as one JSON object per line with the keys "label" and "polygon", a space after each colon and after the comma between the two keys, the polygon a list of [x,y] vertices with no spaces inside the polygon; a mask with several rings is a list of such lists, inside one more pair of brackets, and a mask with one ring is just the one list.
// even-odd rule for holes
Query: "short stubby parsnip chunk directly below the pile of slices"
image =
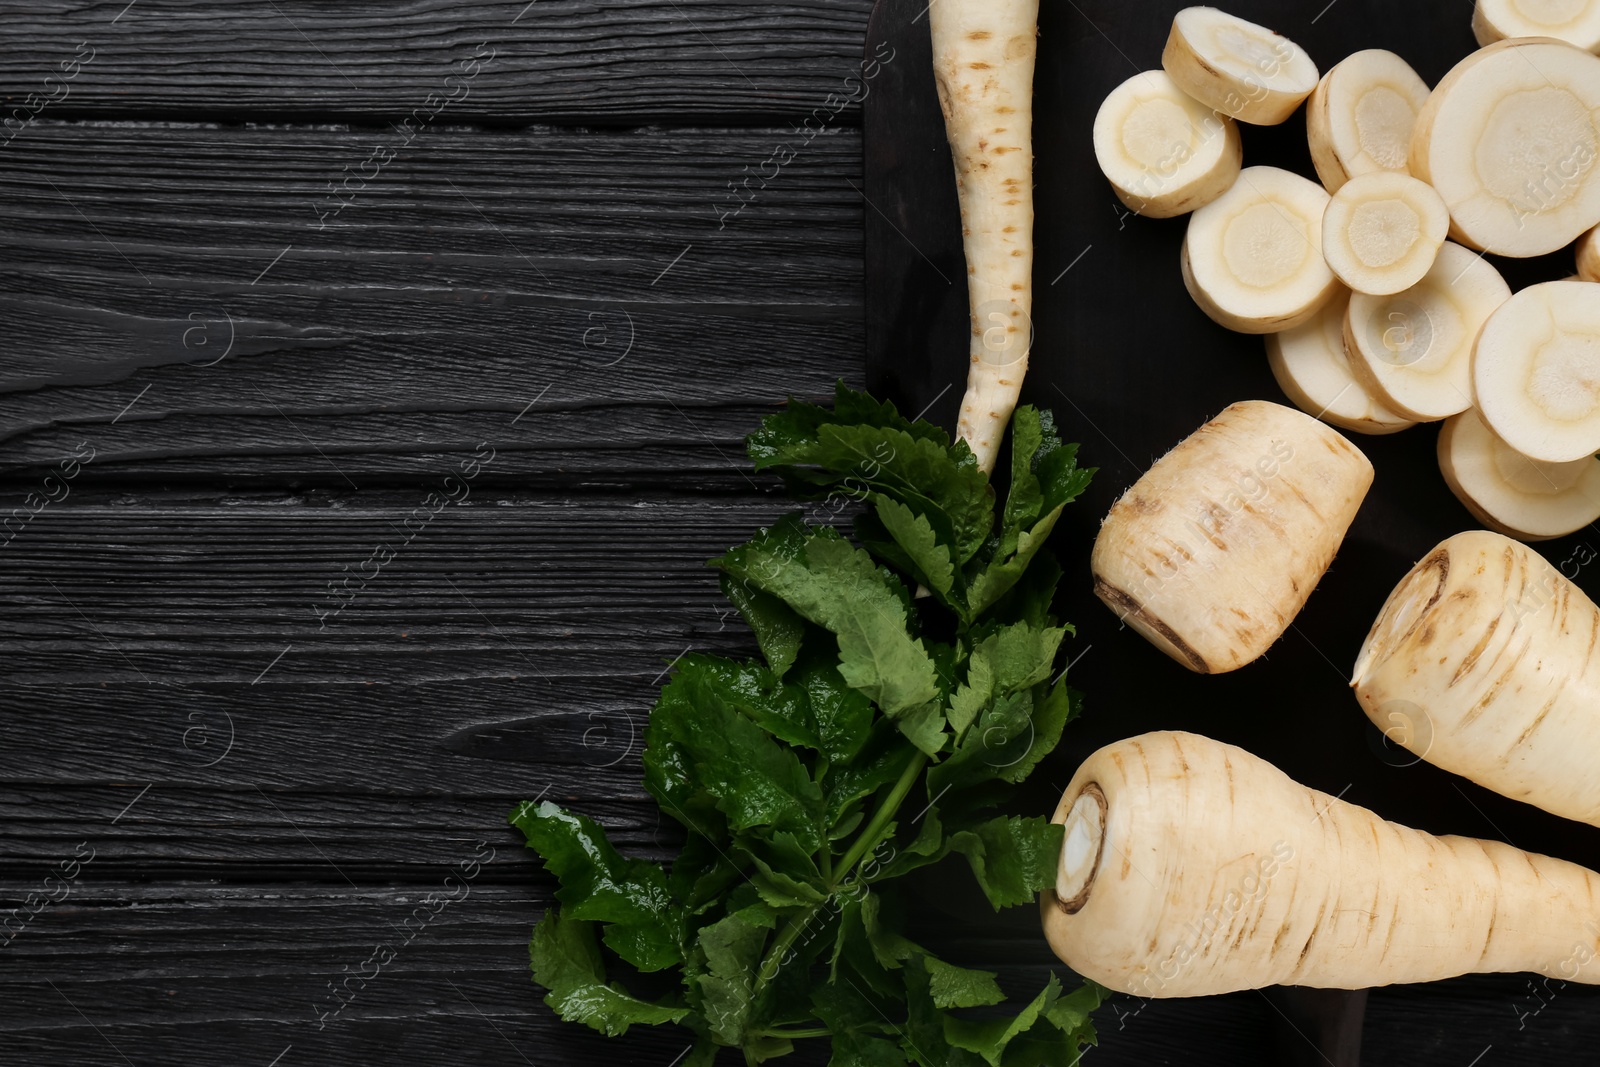
{"label": "short stubby parsnip chunk directly below the pile of slices", "polygon": [[1306,605],[1371,483],[1366,456],[1317,419],[1230,405],[1112,506],[1094,593],[1190,670],[1243,667]]}

